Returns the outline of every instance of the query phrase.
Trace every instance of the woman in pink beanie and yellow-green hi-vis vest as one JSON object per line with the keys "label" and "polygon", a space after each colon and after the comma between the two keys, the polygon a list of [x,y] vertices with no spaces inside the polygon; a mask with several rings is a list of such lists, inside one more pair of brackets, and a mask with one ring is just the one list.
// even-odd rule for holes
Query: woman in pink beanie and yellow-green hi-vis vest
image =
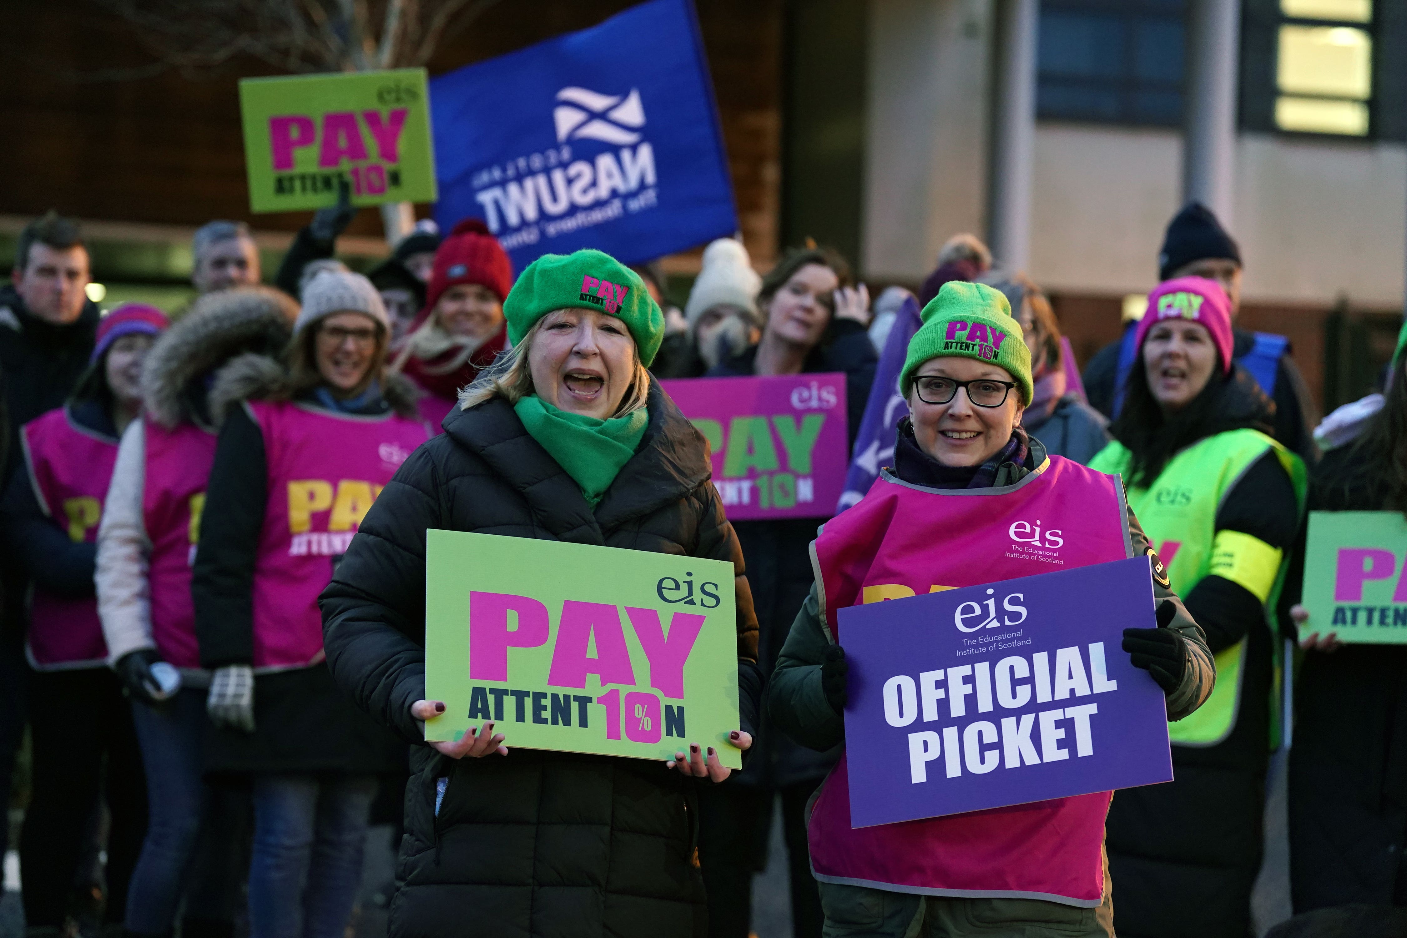
{"label": "woman in pink beanie and yellow-green hi-vis vest", "polygon": [[[1211,699],[1171,727],[1176,780],[1119,792],[1109,811],[1116,924],[1127,938],[1251,928],[1278,641],[1271,612],[1304,506],[1304,464],[1269,435],[1275,405],[1233,360],[1220,284],[1148,297],[1114,442],[1090,467],[1128,502],[1217,660]],[[1197,901],[1188,901],[1196,896]]]}

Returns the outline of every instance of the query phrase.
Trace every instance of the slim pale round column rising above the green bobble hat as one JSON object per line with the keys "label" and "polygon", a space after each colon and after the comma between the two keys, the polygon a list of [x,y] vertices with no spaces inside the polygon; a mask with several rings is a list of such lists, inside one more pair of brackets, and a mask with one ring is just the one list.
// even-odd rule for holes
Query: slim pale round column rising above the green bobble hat
{"label": "slim pale round column rising above the green bobble hat", "polygon": [[1038,28],[1038,0],[998,0],[988,240],[1009,270],[1024,270],[1031,256]]}

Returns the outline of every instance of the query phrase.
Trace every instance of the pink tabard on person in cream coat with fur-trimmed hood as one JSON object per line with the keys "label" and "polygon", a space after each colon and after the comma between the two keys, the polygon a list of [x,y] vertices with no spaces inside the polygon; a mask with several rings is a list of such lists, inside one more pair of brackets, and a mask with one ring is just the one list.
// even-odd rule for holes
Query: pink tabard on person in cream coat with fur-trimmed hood
{"label": "pink tabard on person in cream coat with fur-trimmed hood", "polygon": [[144,419],[146,475],[142,523],[152,541],[146,581],[152,592],[152,640],[177,668],[200,667],[190,570],[196,563],[200,512],[215,463],[215,435],[194,423],[167,430]]}

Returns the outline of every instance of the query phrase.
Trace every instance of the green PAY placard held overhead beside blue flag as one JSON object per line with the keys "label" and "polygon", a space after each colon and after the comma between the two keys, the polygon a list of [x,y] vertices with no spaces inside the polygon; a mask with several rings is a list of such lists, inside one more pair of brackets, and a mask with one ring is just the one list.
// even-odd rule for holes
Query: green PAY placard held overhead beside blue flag
{"label": "green PAY placard held overhead beside blue flag", "polygon": [[250,211],[436,198],[425,69],[242,79],[239,111]]}

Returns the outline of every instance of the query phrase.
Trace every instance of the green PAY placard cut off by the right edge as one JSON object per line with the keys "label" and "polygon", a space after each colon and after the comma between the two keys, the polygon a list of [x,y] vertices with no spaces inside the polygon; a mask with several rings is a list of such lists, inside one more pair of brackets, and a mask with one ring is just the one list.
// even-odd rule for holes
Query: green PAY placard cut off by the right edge
{"label": "green PAY placard cut off by the right edge", "polygon": [[1400,512],[1310,512],[1300,626],[1339,641],[1407,643],[1407,520]]}

